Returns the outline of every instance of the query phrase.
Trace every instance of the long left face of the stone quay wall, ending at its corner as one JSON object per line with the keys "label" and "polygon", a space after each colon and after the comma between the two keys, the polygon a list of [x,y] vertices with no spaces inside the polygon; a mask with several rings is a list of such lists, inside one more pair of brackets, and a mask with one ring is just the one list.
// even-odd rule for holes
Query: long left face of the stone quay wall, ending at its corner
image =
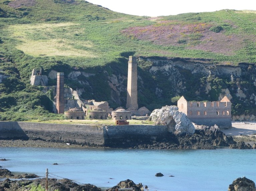
{"label": "long left face of the stone quay wall, ending at its corner", "polygon": [[0,139],[104,144],[103,127],[77,124],[0,122]]}

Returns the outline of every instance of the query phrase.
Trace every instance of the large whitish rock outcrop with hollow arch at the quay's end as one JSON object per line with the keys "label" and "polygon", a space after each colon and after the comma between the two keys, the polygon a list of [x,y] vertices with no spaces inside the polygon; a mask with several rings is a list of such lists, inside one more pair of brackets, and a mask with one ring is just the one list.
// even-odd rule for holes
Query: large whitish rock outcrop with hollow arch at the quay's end
{"label": "large whitish rock outcrop with hollow arch at the quay's end", "polygon": [[165,106],[155,109],[150,120],[156,125],[167,125],[170,133],[183,134],[195,133],[195,127],[185,113],[179,112],[177,106]]}

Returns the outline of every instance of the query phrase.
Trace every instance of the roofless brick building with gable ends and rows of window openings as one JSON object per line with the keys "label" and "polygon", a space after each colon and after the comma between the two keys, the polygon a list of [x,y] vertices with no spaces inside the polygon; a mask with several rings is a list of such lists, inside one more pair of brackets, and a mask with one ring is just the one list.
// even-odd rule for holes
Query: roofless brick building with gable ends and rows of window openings
{"label": "roofless brick building with gable ends and rows of window openings", "polygon": [[221,101],[213,102],[190,102],[182,96],[178,100],[178,108],[197,125],[217,125],[220,129],[232,128],[231,102],[227,96]]}

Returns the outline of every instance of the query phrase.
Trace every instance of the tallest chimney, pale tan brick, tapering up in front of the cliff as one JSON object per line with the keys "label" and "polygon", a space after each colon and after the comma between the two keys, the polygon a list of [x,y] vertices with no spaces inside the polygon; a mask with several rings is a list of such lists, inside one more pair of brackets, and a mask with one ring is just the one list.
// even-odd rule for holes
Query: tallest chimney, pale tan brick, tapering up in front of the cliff
{"label": "tallest chimney, pale tan brick, tapering up in front of the cliff", "polygon": [[129,56],[126,108],[138,109],[137,94],[137,61],[135,57]]}

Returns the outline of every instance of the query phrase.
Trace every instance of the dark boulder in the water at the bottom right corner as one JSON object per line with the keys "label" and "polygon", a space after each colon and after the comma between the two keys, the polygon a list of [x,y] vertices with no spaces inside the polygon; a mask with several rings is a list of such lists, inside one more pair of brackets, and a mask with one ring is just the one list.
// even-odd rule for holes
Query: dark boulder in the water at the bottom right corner
{"label": "dark boulder in the water at the bottom right corner", "polygon": [[256,191],[255,183],[246,178],[237,178],[229,185],[228,191]]}

